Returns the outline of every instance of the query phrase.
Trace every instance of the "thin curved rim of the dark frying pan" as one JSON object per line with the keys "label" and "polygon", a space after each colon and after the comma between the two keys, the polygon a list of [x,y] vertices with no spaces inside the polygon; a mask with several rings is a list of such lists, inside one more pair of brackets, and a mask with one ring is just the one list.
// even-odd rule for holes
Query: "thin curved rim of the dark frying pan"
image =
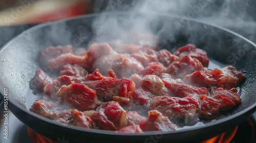
{"label": "thin curved rim of the dark frying pan", "polygon": [[[75,17],[71,17],[71,18],[66,18],[66,19],[61,19],[61,20],[57,20],[57,21],[52,21],[52,22],[46,22],[46,23],[41,23],[39,25],[36,25],[28,30],[25,30],[24,32],[20,33],[19,35],[17,35],[16,37],[14,37],[13,39],[11,39],[10,41],[8,41],[1,49],[0,49],[0,54],[7,48],[7,46],[9,44],[12,43],[12,41],[15,41],[17,38],[23,36],[24,34],[27,34],[31,31],[33,31],[34,29],[39,29],[39,28],[42,28],[42,27],[45,27],[45,26],[49,26],[49,25],[52,25],[54,23],[59,23],[59,22],[63,22],[63,21],[69,21],[69,20],[73,20],[73,19],[79,19],[79,18],[87,18],[87,17],[96,17],[96,16],[99,16],[100,14],[103,14],[103,15],[112,15],[112,14],[116,14],[116,15],[120,15],[120,14],[127,14],[127,15],[132,15],[132,14],[135,14],[134,12],[122,12],[122,11],[118,11],[118,12],[108,12],[108,13],[92,13],[92,14],[86,14],[86,15],[80,15],[80,16],[75,16]],[[138,13],[136,13],[138,14]],[[139,14],[144,14],[143,12],[139,12]],[[171,18],[181,18],[181,16],[179,15],[173,15],[173,14],[163,14],[163,13],[156,13],[156,12],[147,12],[147,15],[148,14],[151,14],[152,16],[165,16],[165,17],[171,17]],[[207,26],[210,26],[210,27],[214,27],[214,28],[217,28],[217,29],[220,29],[220,30],[223,30],[225,32],[228,32],[232,35],[235,35],[243,40],[245,40],[247,43],[251,44],[252,46],[256,47],[256,44],[253,43],[252,41],[250,41],[249,39],[243,37],[242,35],[236,33],[236,32],[233,32],[231,30],[228,30],[226,28],[223,28],[223,27],[220,27],[220,26],[217,26],[217,25],[214,25],[212,23],[208,23],[208,22],[205,22],[205,21],[201,21],[201,20],[198,20],[198,19],[194,19],[194,18],[184,18],[186,20],[189,20],[189,21],[194,21],[194,22],[197,22],[197,23],[201,23],[203,25],[207,25]],[[1,80],[0,80],[1,81]],[[1,92],[1,96],[4,95],[3,91],[0,90]],[[131,133],[120,133],[120,132],[113,132],[113,131],[105,131],[105,130],[98,130],[98,129],[84,129],[84,128],[80,128],[80,127],[76,127],[76,126],[66,126],[66,125],[62,125],[62,124],[58,124],[58,123],[55,123],[53,122],[52,120],[50,120],[49,118],[46,118],[46,117],[42,117],[36,113],[33,113],[33,112],[30,112],[29,110],[25,109],[23,106],[19,105],[19,104],[16,104],[15,101],[12,101],[12,99],[8,100],[13,106],[17,107],[18,109],[21,109],[23,110],[24,112],[28,113],[28,114],[31,114],[32,116],[34,116],[35,118],[39,119],[39,120],[42,120],[42,121],[45,121],[45,122],[48,122],[50,124],[54,124],[56,126],[62,126],[62,127],[65,127],[65,128],[69,128],[69,129],[72,129],[72,130],[78,130],[78,131],[82,131],[82,132],[91,132],[91,133],[98,133],[98,134],[106,134],[106,135],[126,135],[126,136],[143,136],[143,135],[152,135],[152,134],[156,134],[156,132],[158,133],[161,133],[161,134],[176,134],[176,133],[180,133],[180,132],[189,132],[189,131],[195,131],[195,130],[199,130],[199,129],[203,129],[203,128],[207,128],[207,127],[210,127],[210,126],[215,126],[215,125],[219,125],[219,124],[224,124],[225,122],[228,122],[229,120],[232,120],[238,116],[241,116],[243,114],[245,114],[246,112],[252,110],[253,108],[256,109],[256,103],[250,105],[249,107],[243,109],[242,111],[239,111],[237,113],[234,113],[232,115],[229,115],[227,117],[224,117],[224,118],[221,118],[217,121],[214,121],[214,122],[209,122],[209,123],[205,123],[203,126],[199,126],[199,127],[191,127],[191,128],[188,128],[188,129],[182,129],[182,130],[177,130],[177,131],[167,131],[167,132],[162,132],[162,131],[148,131],[148,132],[144,132],[144,133],[141,133],[141,134],[131,134]],[[254,109],[254,110],[255,110]]]}

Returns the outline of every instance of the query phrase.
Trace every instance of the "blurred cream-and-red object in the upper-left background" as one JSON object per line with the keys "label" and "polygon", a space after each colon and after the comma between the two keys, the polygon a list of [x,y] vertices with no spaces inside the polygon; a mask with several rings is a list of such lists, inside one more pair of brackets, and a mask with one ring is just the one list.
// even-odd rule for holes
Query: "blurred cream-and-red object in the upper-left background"
{"label": "blurred cream-and-red object in the upper-left background", "polygon": [[91,12],[92,2],[92,0],[17,1],[12,7],[0,11],[0,26],[41,23],[87,14]]}

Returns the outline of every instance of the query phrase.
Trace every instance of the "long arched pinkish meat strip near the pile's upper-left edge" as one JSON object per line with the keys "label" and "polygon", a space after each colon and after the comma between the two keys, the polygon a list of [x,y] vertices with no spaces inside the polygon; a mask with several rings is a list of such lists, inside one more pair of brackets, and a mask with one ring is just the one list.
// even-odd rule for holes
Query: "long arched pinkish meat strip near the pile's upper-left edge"
{"label": "long arched pinkish meat strip near the pile's upper-left edge", "polygon": [[59,71],[60,68],[66,64],[77,64],[83,68],[88,68],[90,64],[87,62],[87,59],[87,56],[76,56],[72,53],[67,53],[49,60],[47,65],[54,71]]}

